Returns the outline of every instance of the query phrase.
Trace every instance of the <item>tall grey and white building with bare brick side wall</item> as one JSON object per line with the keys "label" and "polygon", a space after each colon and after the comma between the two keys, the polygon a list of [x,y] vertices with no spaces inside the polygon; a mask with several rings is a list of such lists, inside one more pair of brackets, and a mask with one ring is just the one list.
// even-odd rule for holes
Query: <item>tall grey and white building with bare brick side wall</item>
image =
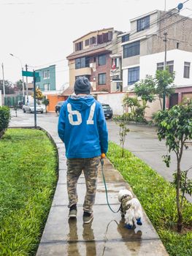
{"label": "tall grey and white building with bare brick side wall", "polygon": [[131,19],[131,30],[118,35],[122,47],[123,91],[131,91],[134,83],[155,75],[166,66],[175,72],[175,94],[171,105],[183,97],[192,98],[192,19],[178,10],[155,10]]}

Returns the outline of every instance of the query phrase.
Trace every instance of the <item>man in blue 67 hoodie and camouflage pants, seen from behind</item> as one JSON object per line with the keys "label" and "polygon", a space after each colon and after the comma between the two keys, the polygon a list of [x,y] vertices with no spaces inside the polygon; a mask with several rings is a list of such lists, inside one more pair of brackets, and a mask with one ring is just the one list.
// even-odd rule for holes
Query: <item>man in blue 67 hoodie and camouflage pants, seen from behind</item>
{"label": "man in blue 67 hoodie and camouflage pants, seen from behind", "polygon": [[58,135],[66,148],[69,218],[77,216],[77,181],[83,170],[86,184],[84,223],[93,219],[99,162],[101,153],[106,153],[108,148],[104,112],[90,92],[88,78],[77,78],[74,83],[76,95],[64,102],[58,119]]}

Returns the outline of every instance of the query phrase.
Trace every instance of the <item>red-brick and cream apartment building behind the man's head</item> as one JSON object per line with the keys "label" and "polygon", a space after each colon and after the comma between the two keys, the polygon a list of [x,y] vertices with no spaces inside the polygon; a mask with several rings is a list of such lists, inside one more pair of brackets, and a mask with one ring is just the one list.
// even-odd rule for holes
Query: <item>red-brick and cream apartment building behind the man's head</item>
{"label": "red-brick and cream apartment building behind the man's head", "polygon": [[122,88],[120,33],[113,28],[101,29],[74,40],[74,51],[66,57],[69,61],[69,88],[73,88],[79,76],[91,81],[93,93]]}

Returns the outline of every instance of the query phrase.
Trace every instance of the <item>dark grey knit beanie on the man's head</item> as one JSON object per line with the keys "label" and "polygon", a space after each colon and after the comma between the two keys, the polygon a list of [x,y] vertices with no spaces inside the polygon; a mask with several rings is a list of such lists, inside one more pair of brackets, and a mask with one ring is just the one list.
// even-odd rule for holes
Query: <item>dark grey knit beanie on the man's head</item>
{"label": "dark grey knit beanie on the man's head", "polygon": [[88,78],[79,77],[74,83],[74,93],[75,94],[90,94],[91,83]]}

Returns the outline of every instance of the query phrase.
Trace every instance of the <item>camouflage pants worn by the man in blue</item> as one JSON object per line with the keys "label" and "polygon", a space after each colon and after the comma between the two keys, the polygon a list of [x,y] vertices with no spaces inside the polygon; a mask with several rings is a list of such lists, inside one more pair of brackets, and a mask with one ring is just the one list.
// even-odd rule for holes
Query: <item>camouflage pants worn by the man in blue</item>
{"label": "camouflage pants worn by the man in blue", "polygon": [[100,157],[67,159],[67,192],[69,207],[78,202],[77,181],[82,170],[85,176],[86,195],[83,203],[83,210],[92,212],[96,197],[97,173]]}

